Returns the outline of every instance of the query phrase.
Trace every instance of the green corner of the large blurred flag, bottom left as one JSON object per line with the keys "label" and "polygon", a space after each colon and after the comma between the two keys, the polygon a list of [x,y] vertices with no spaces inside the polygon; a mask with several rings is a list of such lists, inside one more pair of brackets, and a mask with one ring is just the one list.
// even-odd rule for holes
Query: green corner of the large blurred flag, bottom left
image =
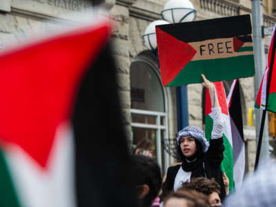
{"label": "green corner of the large blurred flag, bottom left", "polygon": [[10,172],[3,152],[0,150],[0,206],[19,207],[19,201],[12,184]]}

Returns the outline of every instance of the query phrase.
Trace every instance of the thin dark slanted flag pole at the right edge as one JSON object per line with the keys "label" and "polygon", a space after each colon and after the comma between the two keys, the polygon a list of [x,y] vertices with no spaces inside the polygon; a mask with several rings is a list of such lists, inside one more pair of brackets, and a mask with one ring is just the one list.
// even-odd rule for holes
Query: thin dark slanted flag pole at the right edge
{"label": "thin dark slanted flag pole at the right edge", "polygon": [[264,122],[266,120],[266,110],[267,110],[267,104],[268,104],[268,95],[269,95],[269,88],[270,88],[270,82],[271,82],[271,75],[273,71],[273,64],[274,64],[274,57],[275,57],[275,49],[276,49],[276,38],[275,33],[273,34],[273,48],[271,53],[271,59],[270,59],[270,65],[268,70],[268,81],[266,84],[266,106],[262,114],[262,123],[261,128],[259,130],[259,140],[258,140],[258,146],[257,146],[257,153],[256,153],[256,159],[255,159],[255,168],[254,170],[257,170],[258,164],[259,164],[259,155],[261,152],[261,146],[262,146],[262,138],[263,138],[263,132],[264,132]]}

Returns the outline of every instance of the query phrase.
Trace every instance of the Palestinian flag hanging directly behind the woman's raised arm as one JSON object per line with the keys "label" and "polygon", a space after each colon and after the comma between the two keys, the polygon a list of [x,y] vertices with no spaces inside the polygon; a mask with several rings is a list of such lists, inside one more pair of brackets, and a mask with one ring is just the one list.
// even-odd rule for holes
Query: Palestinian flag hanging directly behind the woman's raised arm
{"label": "Palestinian flag hanging directly behind the woman's raised arm", "polygon": [[[230,126],[230,117],[228,107],[226,103],[226,94],[224,91],[224,85],[222,82],[215,82],[215,88],[217,91],[217,97],[219,99],[219,106],[221,107],[222,116],[224,118],[224,160],[221,163],[221,171],[225,172],[229,179],[229,188],[233,190],[234,179],[233,179],[233,144]],[[209,90],[206,89],[206,107],[205,107],[205,134],[208,141],[210,141],[212,130],[213,130],[213,112],[211,110],[211,100]]]}

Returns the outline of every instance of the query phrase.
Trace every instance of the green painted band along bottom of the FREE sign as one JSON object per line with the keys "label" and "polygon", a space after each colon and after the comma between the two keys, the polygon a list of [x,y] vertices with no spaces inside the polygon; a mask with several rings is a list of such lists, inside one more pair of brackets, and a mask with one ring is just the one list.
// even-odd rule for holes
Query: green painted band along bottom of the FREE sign
{"label": "green painted band along bottom of the FREE sign", "polygon": [[[221,66],[224,67],[223,70]],[[200,83],[201,76],[199,74],[206,74],[205,67],[212,68],[212,70],[208,70],[208,77],[206,77],[210,81],[220,81],[226,77],[226,73],[229,80],[236,77],[255,75],[255,70],[252,70],[252,68],[255,68],[254,55],[190,61],[167,86],[181,86],[183,79],[187,79],[187,77],[189,81],[187,84]],[[245,70],[241,70],[241,67],[245,68]]]}

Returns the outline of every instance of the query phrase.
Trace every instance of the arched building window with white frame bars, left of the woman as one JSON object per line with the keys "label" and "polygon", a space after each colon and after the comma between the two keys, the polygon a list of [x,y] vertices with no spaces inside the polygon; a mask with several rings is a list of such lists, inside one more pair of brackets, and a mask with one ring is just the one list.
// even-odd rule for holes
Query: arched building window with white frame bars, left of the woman
{"label": "arched building window with white frame bars, left of the woman", "polygon": [[130,66],[132,144],[153,142],[153,157],[162,171],[168,168],[164,139],[168,137],[166,92],[155,59],[137,57]]}

